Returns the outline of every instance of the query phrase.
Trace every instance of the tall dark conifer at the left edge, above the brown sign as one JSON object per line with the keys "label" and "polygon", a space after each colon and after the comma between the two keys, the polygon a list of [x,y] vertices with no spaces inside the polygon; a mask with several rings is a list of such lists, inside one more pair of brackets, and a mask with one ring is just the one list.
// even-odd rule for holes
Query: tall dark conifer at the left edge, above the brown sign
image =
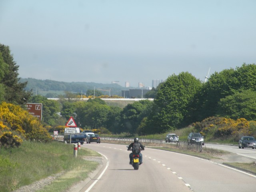
{"label": "tall dark conifer at the left edge, above the brown sign", "polygon": [[[4,100],[6,102],[12,102],[15,104],[24,104],[32,96],[32,92],[26,92],[24,88],[27,82],[20,83],[18,78],[18,68],[12,55],[10,54],[10,49],[8,46],[0,44],[0,53],[4,63],[4,76],[0,78],[0,90],[3,90],[3,85],[5,89]],[[3,68],[2,61],[0,68]],[[0,75],[1,76],[1,75]]]}

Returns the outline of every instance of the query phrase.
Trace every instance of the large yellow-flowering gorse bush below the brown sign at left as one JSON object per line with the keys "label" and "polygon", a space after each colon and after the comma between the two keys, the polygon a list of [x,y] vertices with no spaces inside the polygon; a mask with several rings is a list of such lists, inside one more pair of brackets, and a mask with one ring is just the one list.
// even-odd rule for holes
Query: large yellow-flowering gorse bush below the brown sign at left
{"label": "large yellow-flowering gorse bush below the brown sign at left", "polygon": [[0,104],[1,146],[20,146],[22,139],[49,142],[52,138],[41,122],[18,105]]}

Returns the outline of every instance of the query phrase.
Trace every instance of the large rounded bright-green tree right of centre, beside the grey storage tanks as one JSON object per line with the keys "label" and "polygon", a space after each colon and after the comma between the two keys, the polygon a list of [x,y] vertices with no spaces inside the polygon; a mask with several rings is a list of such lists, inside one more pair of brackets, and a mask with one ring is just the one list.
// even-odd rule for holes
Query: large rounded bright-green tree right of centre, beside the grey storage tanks
{"label": "large rounded bright-green tree right of centre, beside the grey storage tanks", "polygon": [[159,85],[147,127],[150,133],[162,133],[183,126],[188,104],[201,89],[202,82],[188,72],[173,74]]}

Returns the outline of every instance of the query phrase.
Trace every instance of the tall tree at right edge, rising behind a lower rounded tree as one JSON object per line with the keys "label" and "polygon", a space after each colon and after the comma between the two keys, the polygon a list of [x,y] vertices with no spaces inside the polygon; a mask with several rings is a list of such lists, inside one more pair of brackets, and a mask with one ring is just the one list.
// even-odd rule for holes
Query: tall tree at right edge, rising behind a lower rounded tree
{"label": "tall tree at right edge, rising behind a lower rounded tree", "polygon": [[195,121],[215,116],[218,111],[218,102],[226,96],[233,95],[242,90],[256,91],[256,65],[243,64],[234,69],[225,69],[220,73],[215,72],[203,84],[201,92],[194,98],[194,109],[190,116]]}

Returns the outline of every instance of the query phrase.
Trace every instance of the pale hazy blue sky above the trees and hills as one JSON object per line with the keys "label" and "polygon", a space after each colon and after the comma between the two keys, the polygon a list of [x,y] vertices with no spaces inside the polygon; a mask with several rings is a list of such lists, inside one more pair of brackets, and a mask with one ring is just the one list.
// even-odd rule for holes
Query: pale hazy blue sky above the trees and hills
{"label": "pale hazy blue sky above the trees and hills", "polygon": [[0,0],[22,78],[152,86],[256,63],[255,0]]}

